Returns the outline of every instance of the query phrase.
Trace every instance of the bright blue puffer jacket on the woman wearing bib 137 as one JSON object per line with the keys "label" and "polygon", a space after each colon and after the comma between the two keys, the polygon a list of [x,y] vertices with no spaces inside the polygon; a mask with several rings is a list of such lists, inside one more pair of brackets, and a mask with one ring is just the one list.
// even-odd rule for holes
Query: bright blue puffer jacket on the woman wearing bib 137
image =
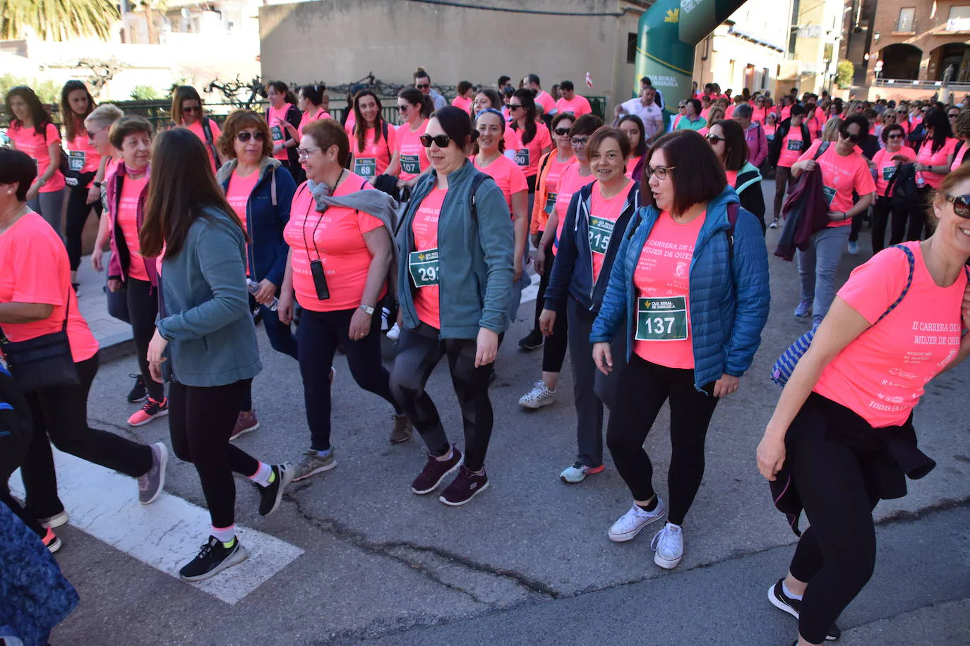
{"label": "bright blue puffer jacket on the woman wearing bib 137", "polygon": [[[734,225],[733,258],[728,259],[727,204],[737,202],[737,194],[726,187],[707,205],[691,259],[691,340],[694,386],[699,391],[723,374],[744,374],[768,320],[768,254],[758,219],[743,208]],[[628,359],[636,322],[633,272],[658,217],[656,207],[644,206],[630,220],[590,334],[592,343],[608,343],[626,317]]]}

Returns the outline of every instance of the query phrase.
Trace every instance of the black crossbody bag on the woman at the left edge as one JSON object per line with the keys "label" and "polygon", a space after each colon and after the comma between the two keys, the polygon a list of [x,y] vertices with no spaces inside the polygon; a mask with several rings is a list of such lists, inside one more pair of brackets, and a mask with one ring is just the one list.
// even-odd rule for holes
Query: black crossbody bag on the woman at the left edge
{"label": "black crossbody bag on the woman at the left edge", "polygon": [[10,373],[23,392],[81,384],[78,368],[71,356],[67,319],[71,310],[71,288],[64,307],[60,330],[27,341],[10,341],[0,330],[0,349],[7,357]]}

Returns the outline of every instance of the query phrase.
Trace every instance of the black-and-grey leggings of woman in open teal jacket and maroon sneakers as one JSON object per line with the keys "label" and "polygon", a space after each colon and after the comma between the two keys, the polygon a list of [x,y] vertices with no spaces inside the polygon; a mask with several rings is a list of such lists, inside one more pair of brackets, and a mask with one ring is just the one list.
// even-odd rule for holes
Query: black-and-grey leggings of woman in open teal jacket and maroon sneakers
{"label": "black-and-grey leggings of woman in open teal jacket and maroon sneakers", "polygon": [[421,323],[413,330],[401,330],[398,356],[391,369],[391,390],[395,398],[421,433],[428,450],[440,457],[448,452],[448,436],[425,385],[441,357],[448,357],[451,384],[465,422],[465,466],[471,471],[478,471],[485,464],[495,421],[488,397],[492,364],[476,368],[476,348],[475,339],[438,339],[438,330]]}

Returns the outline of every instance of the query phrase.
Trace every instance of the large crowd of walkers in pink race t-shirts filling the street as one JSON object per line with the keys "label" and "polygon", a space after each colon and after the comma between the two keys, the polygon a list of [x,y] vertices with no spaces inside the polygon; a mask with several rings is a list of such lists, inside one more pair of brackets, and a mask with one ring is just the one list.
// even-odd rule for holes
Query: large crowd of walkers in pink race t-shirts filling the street
{"label": "large crowd of walkers in pink race t-shirts filling the street", "polygon": [[[10,90],[0,351],[24,398],[0,402],[0,414],[16,405],[32,422],[0,433],[0,503],[50,552],[60,548],[54,529],[68,517],[51,445],[136,478],[144,505],[164,490],[165,443],[87,424],[99,353],[76,292],[93,213],[90,260],[107,266],[109,310],[131,324],[136,347],[127,399],[144,403],[128,423],[168,416],[171,448],[195,466],[210,512],[209,537],[183,579],[247,558],[234,474],[256,486],[269,515],[291,481],[337,466],[338,352],[353,381],[387,403],[389,441],[417,429],[427,447],[414,494],[440,490],[441,503],[458,507],[488,489],[489,385],[533,268],[532,330],[518,345],[541,349],[540,379],[519,404],[556,401],[568,353],[576,448],[561,479],[604,471],[609,409],[605,446],[632,502],[608,538],[631,540],[663,520],[654,561],[676,568],[707,430],[760,347],[770,305],[764,236],[781,227],[797,247],[794,316],[812,316],[811,345],[757,462],[795,533],[802,510],[811,527],[768,596],[798,618],[796,643],[837,638],[836,619],[874,566],[872,508],[903,495],[904,476],[932,468],[913,427],[924,384],[970,354],[970,97],[863,103],[792,88],[776,103],[709,83],[665,118],[663,94],[644,77],[639,96],[604,124],[568,80],[552,94],[534,74],[517,88],[509,77],[497,87],[462,81],[450,106],[427,71],[413,80],[398,93],[397,126],[369,88],[356,88],[338,121],[324,86],[295,95],[275,81],[265,112],[238,109],[221,124],[194,88],[179,86],[160,130],[95,106],[72,80],[63,138],[33,90]],[[761,184],[771,177],[769,212]],[[857,253],[866,218],[874,255],[838,286],[838,263]],[[260,425],[257,322],[299,365],[309,438],[297,464],[262,462],[232,444]],[[922,345],[920,329],[948,334]],[[390,369],[384,334],[397,342]],[[464,442],[437,412],[432,395],[444,393],[426,388],[443,358]],[[903,364],[906,376],[888,379]],[[665,402],[662,498],[643,445]],[[7,486],[17,467],[22,502]]]}

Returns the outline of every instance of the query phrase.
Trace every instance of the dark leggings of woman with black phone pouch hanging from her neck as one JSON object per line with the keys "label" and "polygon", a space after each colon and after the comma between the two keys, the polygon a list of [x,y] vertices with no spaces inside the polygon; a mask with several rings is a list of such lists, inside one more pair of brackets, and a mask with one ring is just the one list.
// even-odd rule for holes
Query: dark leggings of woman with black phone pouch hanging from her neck
{"label": "dark leggings of woman with black phone pouch hanging from her neck", "polygon": [[353,341],[347,334],[350,319],[356,311],[314,312],[305,309],[297,327],[297,354],[304,383],[309,446],[314,450],[330,448],[330,368],[341,343],[347,351],[347,365],[357,385],[383,397],[394,407],[395,413],[401,413],[391,396],[390,373],[380,359],[380,315],[375,310],[370,333]]}

